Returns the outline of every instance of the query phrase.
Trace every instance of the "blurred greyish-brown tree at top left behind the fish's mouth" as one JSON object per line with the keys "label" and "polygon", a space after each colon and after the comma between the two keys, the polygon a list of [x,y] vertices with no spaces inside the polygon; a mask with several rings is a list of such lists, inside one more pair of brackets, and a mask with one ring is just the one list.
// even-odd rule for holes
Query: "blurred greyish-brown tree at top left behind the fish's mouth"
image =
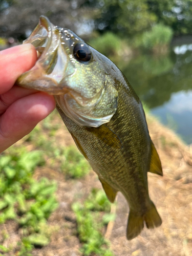
{"label": "blurred greyish-brown tree at top left behind the fish's mouth", "polygon": [[36,27],[40,15],[54,25],[78,32],[83,20],[83,0],[0,0],[0,37],[25,39]]}

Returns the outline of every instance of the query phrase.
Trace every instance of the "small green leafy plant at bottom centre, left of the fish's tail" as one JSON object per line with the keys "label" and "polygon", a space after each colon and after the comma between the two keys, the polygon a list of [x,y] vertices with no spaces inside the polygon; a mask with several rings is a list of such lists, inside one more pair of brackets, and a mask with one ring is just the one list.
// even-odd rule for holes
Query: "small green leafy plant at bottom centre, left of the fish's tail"
{"label": "small green leafy plant at bottom centre, left of the fish's tail", "polygon": [[104,191],[98,189],[92,190],[83,205],[78,202],[72,205],[76,215],[79,240],[83,243],[81,248],[83,255],[92,255],[93,253],[100,256],[114,255],[109,249],[109,242],[101,233],[103,226],[110,220],[114,220],[114,216],[109,213],[104,214],[102,219],[100,218],[100,211],[109,212],[110,205]]}

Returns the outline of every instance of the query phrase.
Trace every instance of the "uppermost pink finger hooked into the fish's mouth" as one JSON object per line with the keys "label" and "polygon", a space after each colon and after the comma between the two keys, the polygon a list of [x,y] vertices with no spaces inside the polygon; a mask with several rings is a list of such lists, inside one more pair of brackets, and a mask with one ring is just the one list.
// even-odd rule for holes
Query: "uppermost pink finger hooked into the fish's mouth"
{"label": "uppermost pink finger hooked into the fish's mouth", "polygon": [[0,52],[0,94],[11,89],[16,79],[30,70],[37,60],[31,44],[16,46]]}

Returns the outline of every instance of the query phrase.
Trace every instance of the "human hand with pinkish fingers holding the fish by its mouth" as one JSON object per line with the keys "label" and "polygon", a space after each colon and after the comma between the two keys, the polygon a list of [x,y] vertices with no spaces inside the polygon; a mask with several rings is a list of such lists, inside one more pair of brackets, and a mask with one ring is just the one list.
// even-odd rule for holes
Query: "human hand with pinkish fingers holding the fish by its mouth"
{"label": "human hand with pinkish fingers holding the fish by its mouth", "polygon": [[53,96],[14,85],[36,60],[31,44],[0,51],[0,153],[30,133],[55,108]]}

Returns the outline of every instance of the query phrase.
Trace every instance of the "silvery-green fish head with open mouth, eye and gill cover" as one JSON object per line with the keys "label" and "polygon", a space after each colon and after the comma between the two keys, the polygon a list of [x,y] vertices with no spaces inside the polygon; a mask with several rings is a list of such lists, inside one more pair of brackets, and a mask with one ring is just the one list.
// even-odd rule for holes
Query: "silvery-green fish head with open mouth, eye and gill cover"
{"label": "silvery-green fish head with open mouth, eye and gill cover", "polygon": [[35,46],[35,66],[17,84],[55,95],[59,108],[81,126],[98,127],[117,110],[118,93],[108,58],[69,29],[41,16],[24,44]]}

